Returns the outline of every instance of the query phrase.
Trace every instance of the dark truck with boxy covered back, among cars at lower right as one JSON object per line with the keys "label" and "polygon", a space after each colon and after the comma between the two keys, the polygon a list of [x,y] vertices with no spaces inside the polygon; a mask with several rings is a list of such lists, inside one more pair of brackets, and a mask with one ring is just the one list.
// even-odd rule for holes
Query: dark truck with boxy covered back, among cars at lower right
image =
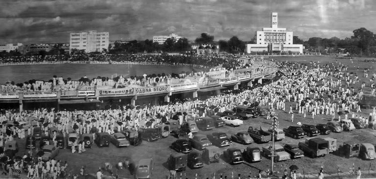
{"label": "dark truck with boxy covered back, among cars at lower right", "polygon": [[305,139],[305,141],[300,141],[298,146],[305,155],[312,158],[329,154],[329,141],[321,137]]}

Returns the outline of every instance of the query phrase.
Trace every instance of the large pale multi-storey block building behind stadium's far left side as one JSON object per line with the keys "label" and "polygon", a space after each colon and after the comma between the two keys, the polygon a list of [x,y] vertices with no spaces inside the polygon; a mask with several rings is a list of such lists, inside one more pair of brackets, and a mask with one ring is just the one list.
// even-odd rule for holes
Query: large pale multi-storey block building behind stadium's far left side
{"label": "large pale multi-storey block building behind stadium's far left side", "polygon": [[108,50],[110,35],[108,32],[97,32],[91,30],[87,32],[71,32],[70,51],[72,49],[85,50],[85,52]]}

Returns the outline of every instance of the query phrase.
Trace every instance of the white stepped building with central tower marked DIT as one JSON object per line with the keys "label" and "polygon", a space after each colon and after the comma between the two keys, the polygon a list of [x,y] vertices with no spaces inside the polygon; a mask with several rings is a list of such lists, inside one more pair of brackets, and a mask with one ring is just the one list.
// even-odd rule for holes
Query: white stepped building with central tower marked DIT
{"label": "white stepped building with central tower marked DIT", "polygon": [[273,12],[270,17],[271,27],[262,28],[257,31],[257,44],[247,44],[247,53],[251,52],[285,52],[303,54],[302,44],[293,44],[292,32],[286,28],[278,28],[278,13]]}

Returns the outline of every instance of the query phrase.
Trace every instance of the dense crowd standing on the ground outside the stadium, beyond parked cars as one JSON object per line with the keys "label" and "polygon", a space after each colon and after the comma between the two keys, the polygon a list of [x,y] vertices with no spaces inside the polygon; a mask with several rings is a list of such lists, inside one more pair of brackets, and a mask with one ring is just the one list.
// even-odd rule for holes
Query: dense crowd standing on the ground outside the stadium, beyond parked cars
{"label": "dense crowd standing on the ground outside the stadium, beyond parked cars", "polygon": [[[353,90],[351,88],[353,83],[346,86],[348,78],[353,79],[355,84],[360,83],[360,81],[353,75],[346,76],[345,66],[338,63],[320,66],[320,64],[315,63],[309,67],[299,63],[287,62],[277,62],[277,65],[284,75],[277,75],[271,82],[263,86],[242,90],[239,93],[211,96],[206,100],[187,99],[162,106],[123,106],[120,109],[94,111],[55,111],[53,108],[23,112],[1,111],[0,123],[3,124],[4,121],[8,120],[28,121],[32,118],[35,119],[37,126],[43,128],[45,133],[49,128],[56,127],[64,135],[67,135],[69,131],[77,134],[92,133],[93,128],[97,129],[97,132],[113,134],[124,129],[138,131],[141,128],[153,128],[156,124],[165,123],[169,119],[178,120],[179,124],[183,124],[188,118],[210,116],[217,112],[231,110],[237,105],[246,104],[246,102],[258,102],[259,105],[267,106],[269,109],[268,118],[271,112],[275,110],[289,112],[292,115],[295,112],[301,113],[305,118],[314,118],[315,115],[319,114],[331,115],[332,119],[340,119],[340,116],[343,116],[343,114],[338,113],[340,110],[351,111],[351,109],[354,109],[355,113],[360,112],[358,101],[362,97],[362,90]],[[290,106],[290,109],[285,108],[287,101],[296,103],[294,111],[292,106]],[[203,104],[207,107],[199,110],[198,107],[202,107]],[[305,115],[308,112],[312,115]],[[189,113],[191,113],[191,116],[188,115]],[[335,117],[336,113],[339,114],[338,117]],[[151,118],[154,120],[151,120]],[[349,116],[345,114],[344,118],[349,118]],[[375,109],[369,116],[359,114],[359,118],[364,120],[366,124],[372,125],[375,130]],[[293,116],[291,122],[293,122]],[[32,131],[31,128],[18,129],[0,126],[0,145],[13,140],[14,137],[26,137]],[[24,130],[27,130],[27,133]],[[72,150],[72,152],[75,151]],[[35,165],[30,165],[31,167],[28,170],[39,171],[40,174],[38,175],[43,175],[43,171],[45,171],[43,166],[48,168],[51,163],[42,163],[41,173],[41,170],[36,170],[40,166],[38,162],[36,161]],[[4,167],[16,168],[17,166],[8,164]],[[49,166],[47,173],[54,174],[54,169],[51,168]]]}

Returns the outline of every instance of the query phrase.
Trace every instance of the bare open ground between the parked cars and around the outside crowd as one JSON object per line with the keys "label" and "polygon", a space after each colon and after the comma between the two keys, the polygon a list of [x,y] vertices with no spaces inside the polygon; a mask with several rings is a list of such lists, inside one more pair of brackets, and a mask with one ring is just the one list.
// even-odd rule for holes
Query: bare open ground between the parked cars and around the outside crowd
{"label": "bare open ground between the parked cars and around the outside crowd", "polygon": [[[274,57],[277,60],[288,60],[288,61],[299,61],[309,65],[309,61],[320,61],[321,64],[329,63],[333,61],[332,58],[328,57]],[[349,71],[354,71],[360,76],[360,80],[365,80],[363,75],[363,69],[365,67],[372,67],[371,72],[374,68],[376,68],[374,63],[366,63],[366,62],[353,62],[353,64],[348,59],[338,59],[338,61],[348,64]],[[335,62],[335,60],[334,60]],[[330,62],[331,63],[331,62]],[[355,65],[355,67],[353,67]],[[359,66],[359,71],[356,70],[356,67]],[[372,76],[372,73],[369,74]],[[357,88],[360,87],[360,83],[357,84]],[[289,125],[296,124],[297,122],[301,122],[302,124],[317,124],[317,123],[326,123],[331,120],[331,116],[329,115],[316,115],[315,119],[312,120],[311,115],[307,115],[306,118],[303,117],[303,114],[298,114],[297,111],[294,115],[294,123],[290,122],[288,119],[290,118],[291,114],[288,114],[288,106],[292,105],[295,106],[294,102],[287,102],[286,103],[286,110],[287,111],[277,111],[280,128],[288,127]],[[363,115],[368,117],[370,110],[363,110],[361,113],[357,113],[357,115]],[[336,115],[336,118],[338,115]],[[341,116],[343,118],[344,116]],[[230,127],[224,126],[221,128],[213,129],[212,131],[200,131],[198,134],[209,134],[212,132],[225,132],[229,136],[231,134],[235,134],[239,131],[246,131],[249,126],[261,126],[263,129],[267,129],[271,126],[271,121],[266,120],[266,116],[251,118],[244,121],[244,124],[240,127]],[[318,135],[319,137],[323,137],[323,135]],[[337,145],[342,144],[343,142],[353,142],[353,143],[362,143],[362,142],[369,142],[376,144],[376,131],[372,131],[370,129],[356,129],[352,132],[342,132],[342,133],[331,133],[329,135],[325,135],[325,137],[334,137],[337,138]],[[171,153],[175,153],[174,150],[170,149],[169,146],[176,138],[173,136],[168,136],[167,138],[163,138],[161,140],[155,142],[146,142],[143,141],[141,146],[129,146],[125,148],[116,148],[114,145],[110,145],[110,147],[105,148],[98,148],[94,145],[93,149],[88,149],[83,154],[71,154],[71,151],[68,149],[60,150],[59,155],[56,157],[62,161],[68,161],[69,169],[68,171],[71,173],[79,173],[81,166],[86,165],[87,173],[95,173],[99,167],[103,167],[105,162],[110,162],[114,165],[118,162],[118,160],[123,158],[130,158],[132,163],[137,162],[141,158],[149,158],[152,157],[155,161],[155,167],[153,170],[153,179],[166,179],[168,175],[168,169],[166,167],[166,160]],[[285,143],[295,143],[297,144],[300,140],[303,139],[293,139],[290,137],[286,137],[282,141],[278,141],[276,143],[285,144]],[[252,143],[249,145],[242,145],[238,143],[233,143],[231,147],[236,147],[241,150],[246,149],[247,147],[258,147],[262,148],[263,146],[270,145],[269,143],[257,144]],[[23,148],[24,144],[21,144],[21,148]],[[221,148],[222,151],[226,150],[227,148]],[[24,151],[20,151],[22,154]],[[274,165],[275,175],[281,177],[283,174],[283,170],[287,169],[290,165],[295,164],[299,167],[297,173],[299,174],[317,174],[323,166],[325,173],[337,173],[339,169],[341,172],[348,173],[352,165],[357,167],[361,167],[362,170],[368,170],[371,167],[372,170],[376,171],[376,159],[374,160],[362,160],[358,157],[352,158],[344,158],[339,157],[333,154],[329,154],[325,157],[319,158],[310,158],[310,157],[301,157],[297,159],[289,159],[283,162],[277,162]],[[241,174],[242,177],[246,177],[248,175],[256,176],[258,174],[258,170],[266,171],[270,169],[271,160],[269,158],[262,157],[262,161],[258,163],[241,163],[237,165],[230,165],[229,163],[223,160],[223,155],[221,155],[221,159],[219,163],[211,163],[210,165],[205,165],[203,168],[200,169],[190,169],[187,167],[187,170],[181,173],[178,173],[178,176],[182,175],[183,179],[194,179],[196,174],[198,179],[206,179],[212,177],[215,173],[215,177],[219,179],[220,175],[227,176],[229,179],[233,175],[235,178],[238,174]],[[133,178],[131,175],[131,171],[127,169],[123,170],[115,170],[115,173],[119,175],[119,177],[125,178]],[[105,173],[107,175],[108,173]],[[264,173],[263,173],[264,174]],[[298,174],[298,176],[299,176]],[[363,177],[363,176],[362,176]],[[364,176],[367,178],[367,176]],[[372,176],[368,176],[370,178]],[[376,176],[373,176],[374,178]]]}

